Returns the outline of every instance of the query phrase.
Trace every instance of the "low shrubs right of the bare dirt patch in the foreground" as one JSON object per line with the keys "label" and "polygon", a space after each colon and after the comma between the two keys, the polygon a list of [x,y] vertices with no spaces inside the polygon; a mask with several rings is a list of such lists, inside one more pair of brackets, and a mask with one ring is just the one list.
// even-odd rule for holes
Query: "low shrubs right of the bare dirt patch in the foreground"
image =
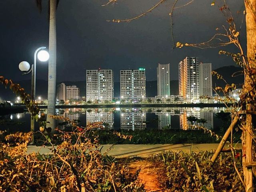
{"label": "low shrubs right of the bare dirt patch in the foreground", "polygon": [[[151,156],[151,160],[164,163],[168,177],[165,185],[170,191],[244,191],[235,171],[232,155],[222,153],[218,161],[212,164],[212,154],[207,151],[163,152]],[[240,154],[235,158],[236,166],[242,175]]]}

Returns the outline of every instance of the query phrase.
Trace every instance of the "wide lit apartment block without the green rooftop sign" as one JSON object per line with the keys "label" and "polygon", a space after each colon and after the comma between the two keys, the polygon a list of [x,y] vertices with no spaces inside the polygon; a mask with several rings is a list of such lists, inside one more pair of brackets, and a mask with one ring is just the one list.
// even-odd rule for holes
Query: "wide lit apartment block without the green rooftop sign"
{"label": "wide lit apartment block without the green rooftop sign", "polygon": [[114,97],[112,70],[86,70],[86,101],[107,100]]}

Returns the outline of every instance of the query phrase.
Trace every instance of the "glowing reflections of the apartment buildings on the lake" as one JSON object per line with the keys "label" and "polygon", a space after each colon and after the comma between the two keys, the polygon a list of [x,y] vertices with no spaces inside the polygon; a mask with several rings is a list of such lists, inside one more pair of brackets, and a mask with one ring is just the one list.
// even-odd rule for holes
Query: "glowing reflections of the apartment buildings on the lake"
{"label": "glowing reflections of the apartment buildings on the lake", "polygon": [[[224,109],[224,108],[223,108]],[[59,115],[69,118],[70,120],[78,120],[82,114],[86,114],[86,125],[93,122],[103,122],[104,126],[114,128],[114,116],[120,118],[120,123],[116,124],[115,129],[123,130],[144,130],[154,128],[154,121],[158,121],[157,128],[162,129],[183,129],[191,128],[191,122],[188,121],[188,116],[202,118],[206,120],[204,127],[207,129],[213,128],[213,114],[223,110],[220,108],[90,108],[90,109],[65,109],[59,110]],[[114,114],[114,111],[116,114]],[[120,117],[119,115],[120,114]],[[148,118],[147,114],[154,114],[156,117]],[[20,115],[20,114],[19,114]],[[174,116],[179,116],[180,125],[172,125],[171,119]],[[119,122],[119,121],[118,121]],[[198,124],[192,122],[192,126]],[[120,125],[120,127],[118,126]]]}

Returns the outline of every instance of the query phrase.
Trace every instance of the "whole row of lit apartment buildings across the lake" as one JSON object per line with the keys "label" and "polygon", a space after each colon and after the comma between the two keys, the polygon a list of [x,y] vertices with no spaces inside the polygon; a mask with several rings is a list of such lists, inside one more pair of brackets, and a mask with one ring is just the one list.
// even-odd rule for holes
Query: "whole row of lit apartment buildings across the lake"
{"label": "whole row of lit apartment buildings across the lake", "polygon": [[[146,99],[145,70],[145,68],[120,70],[120,100],[138,102]],[[200,96],[212,97],[211,63],[199,63],[198,57],[186,57],[180,61],[178,95],[170,93],[170,64],[158,64],[156,71],[157,95],[154,100],[160,99],[161,102],[167,100],[168,102],[183,102],[183,100],[195,102],[197,100],[198,102]],[[70,87],[76,86],[59,84],[56,98],[60,100],[60,98],[68,97],[63,92],[64,89]],[[68,94],[67,91],[66,94]],[[112,101],[113,98],[113,71],[110,69],[86,70],[86,101]]]}

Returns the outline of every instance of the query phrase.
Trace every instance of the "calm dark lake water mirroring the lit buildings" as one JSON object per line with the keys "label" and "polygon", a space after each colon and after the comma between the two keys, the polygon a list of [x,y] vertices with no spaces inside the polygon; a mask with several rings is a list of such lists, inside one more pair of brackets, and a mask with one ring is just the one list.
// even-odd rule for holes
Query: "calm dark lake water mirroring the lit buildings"
{"label": "calm dark lake water mirroring the lit buildings", "polygon": [[[215,117],[220,110],[225,108],[70,108],[57,109],[56,114],[70,120],[79,120],[79,126],[104,121],[105,126],[115,130],[186,129],[190,124],[187,116],[195,116],[206,119],[204,126],[212,129],[222,124]],[[0,119],[8,120],[6,124],[0,124],[0,130],[30,131],[28,112],[0,116]],[[38,124],[36,130],[39,130]]]}

